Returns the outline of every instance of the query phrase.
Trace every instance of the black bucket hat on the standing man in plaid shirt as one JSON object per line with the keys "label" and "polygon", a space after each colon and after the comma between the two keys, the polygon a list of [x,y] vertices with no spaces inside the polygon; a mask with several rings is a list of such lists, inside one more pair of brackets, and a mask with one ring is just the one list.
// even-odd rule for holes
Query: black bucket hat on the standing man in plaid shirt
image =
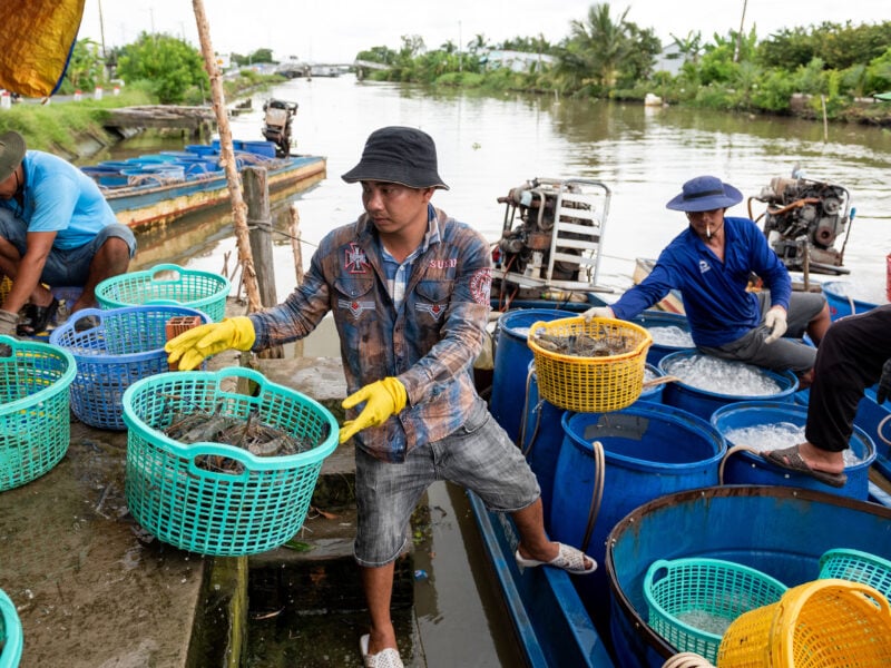
{"label": "black bucket hat on the standing man in plaid shirt", "polygon": [[415,128],[390,126],[374,130],[359,165],[341,177],[347,184],[379,180],[410,188],[449,189],[437,173],[433,138]]}

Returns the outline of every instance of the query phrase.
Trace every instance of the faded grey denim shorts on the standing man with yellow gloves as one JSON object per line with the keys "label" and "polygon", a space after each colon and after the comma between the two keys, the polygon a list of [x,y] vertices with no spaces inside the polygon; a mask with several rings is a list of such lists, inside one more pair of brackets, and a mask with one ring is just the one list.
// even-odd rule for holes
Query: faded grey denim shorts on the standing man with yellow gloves
{"label": "faded grey denim shorts on the standing man with yellow gloves", "polygon": [[360,566],[385,566],[399,557],[411,534],[414,507],[438,480],[460,484],[490,510],[508,513],[531,505],[541,494],[520,449],[478,400],[462,428],[418,445],[402,463],[356,449],[359,522],[353,550]]}

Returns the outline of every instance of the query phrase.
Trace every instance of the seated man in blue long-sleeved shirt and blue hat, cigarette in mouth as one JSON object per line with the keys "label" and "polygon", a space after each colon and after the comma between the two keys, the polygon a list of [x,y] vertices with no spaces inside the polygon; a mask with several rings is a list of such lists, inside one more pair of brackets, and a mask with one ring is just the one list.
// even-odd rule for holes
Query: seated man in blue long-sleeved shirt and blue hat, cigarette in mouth
{"label": "seated man in blue long-sleeved shirt and blue hat, cigarette in mouth", "polygon": [[[650,274],[615,304],[586,317],[628,320],[679,289],[693,341],[702,352],[777,371],[792,370],[806,387],[816,350],[830,325],[822,294],[793,293],[789,271],[748,218],[725,217],[743,194],[715,176],[684,184],[666,208],[684,212],[688,227],[662,252]],[[757,274],[765,291],[747,292]],[[790,338],[782,336],[787,334]]]}

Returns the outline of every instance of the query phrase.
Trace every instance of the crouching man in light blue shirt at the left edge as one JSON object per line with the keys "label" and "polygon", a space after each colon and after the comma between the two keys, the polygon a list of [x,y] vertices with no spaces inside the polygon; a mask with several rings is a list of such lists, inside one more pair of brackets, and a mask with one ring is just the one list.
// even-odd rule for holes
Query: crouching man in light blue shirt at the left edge
{"label": "crouching man in light blue shirt at the left edge", "polygon": [[70,311],[96,306],[96,285],[125,273],[135,252],[136,237],[91,178],[57,156],[26,150],[18,132],[0,134],[0,275],[12,279],[0,334],[46,328],[59,306],[47,285],[84,288]]}

